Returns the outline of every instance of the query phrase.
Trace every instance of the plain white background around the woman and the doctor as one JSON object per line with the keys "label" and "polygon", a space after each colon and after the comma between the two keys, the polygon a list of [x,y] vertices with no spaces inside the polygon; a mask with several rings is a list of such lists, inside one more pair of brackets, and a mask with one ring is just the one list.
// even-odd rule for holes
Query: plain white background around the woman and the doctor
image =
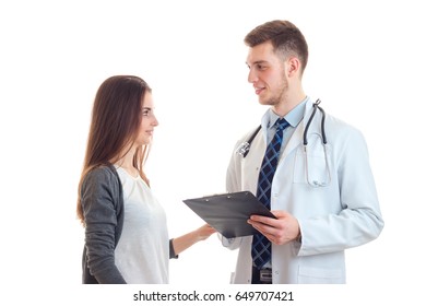
{"label": "plain white background around the woman and the doctor", "polygon": [[[244,36],[286,19],[309,45],[306,93],[367,140],[386,221],[377,240],[347,251],[345,294],[336,287],[328,302],[416,301],[426,272],[421,3],[1,1],[5,292],[16,303],[58,292],[82,299],[71,293],[82,291],[76,185],[93,98],[110,75],[137,74],[153,89],[159,126],[147,174],[170,236],[200,226],[181,200],[225,191],[235,142],[265,111],[247,83]],[[170,261],[168,287],[226,287],[235,259],[213,236]]]}

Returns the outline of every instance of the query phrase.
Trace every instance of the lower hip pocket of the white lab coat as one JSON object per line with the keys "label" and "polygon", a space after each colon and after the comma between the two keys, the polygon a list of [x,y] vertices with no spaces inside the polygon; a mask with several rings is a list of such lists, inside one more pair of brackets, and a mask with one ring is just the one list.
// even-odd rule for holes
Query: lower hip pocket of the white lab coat
{"label": "lower hip pocket of the white lab coat", "polygon": [[344,273],[341,269],[299,267],[299,284],[343,284]]}

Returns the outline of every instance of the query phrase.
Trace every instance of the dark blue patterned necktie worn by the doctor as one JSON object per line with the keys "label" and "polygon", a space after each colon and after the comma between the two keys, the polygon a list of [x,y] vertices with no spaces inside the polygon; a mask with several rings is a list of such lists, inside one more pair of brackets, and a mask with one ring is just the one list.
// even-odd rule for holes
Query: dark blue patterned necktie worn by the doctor
{"label": "dark blue patterned necktie worn by the doctor", "polygon": [[[281,145],[283,143],[283,130],[288,127],[288,122],[284,118],[277,119],[275,127],[275,134],[268,144],[267,152],[264,153],[257,190],[257,198],[268,209],[271,209],[271,186],[279,163]],[[253,235],[251,257],[258,269],[261,269],[271,260],[271,242],[260,233]]]}

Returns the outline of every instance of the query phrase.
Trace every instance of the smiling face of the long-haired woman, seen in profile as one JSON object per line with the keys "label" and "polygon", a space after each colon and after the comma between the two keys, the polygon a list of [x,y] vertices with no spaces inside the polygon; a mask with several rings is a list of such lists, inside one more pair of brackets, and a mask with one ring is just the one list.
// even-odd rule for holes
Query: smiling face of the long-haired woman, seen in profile
{"label": "smiling face of the long-haired woman, seen in profile", "polygon": [[139,128],[139,134],[135,140],[137,145],[150,144],[154,134],[154,128],[158,126],[158,121],[154,115],[154,103],[152,94],[145,92],[142,103],[142,120]]}

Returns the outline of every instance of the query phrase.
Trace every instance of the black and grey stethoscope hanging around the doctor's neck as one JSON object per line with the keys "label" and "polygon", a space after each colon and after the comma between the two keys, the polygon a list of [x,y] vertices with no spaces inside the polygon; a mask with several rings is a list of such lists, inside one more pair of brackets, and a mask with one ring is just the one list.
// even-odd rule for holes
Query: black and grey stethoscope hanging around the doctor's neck
{"label": "black and grey stethoscope hanging around the doctor's neck", "polygon": [[[312,187],[326,187],[331,181],[331,172],[330,172],[329,158],[328,158],[328,143],[326,137],[326,111],[322,107],[319,106],[320,103],[321,99],[319,98],[313,103],[312,114],[310,115],[304,131],[304,155],[306,162],[306,177],[308,184]],[[321,181],[318,179],[309,179],[309,162],[308,162],[308,131],[309,131],[310,123],[312,122],[313,117],[317,113],[317,109],[319,109],[321,113],[321,140],[322,140],[322,148],[323,148],[324,161],[326,161],[326,172],[327,172],[327,178],[321,179]],[[250,138],[247,141],[242,142],[236,150],[236,153],[239,154],[242,158],[245,158],[247,154],[250,152],[251,142],[255,140],[256,136],[259,133],[261,128],[262,127],[259,126],[250,136]]]}

